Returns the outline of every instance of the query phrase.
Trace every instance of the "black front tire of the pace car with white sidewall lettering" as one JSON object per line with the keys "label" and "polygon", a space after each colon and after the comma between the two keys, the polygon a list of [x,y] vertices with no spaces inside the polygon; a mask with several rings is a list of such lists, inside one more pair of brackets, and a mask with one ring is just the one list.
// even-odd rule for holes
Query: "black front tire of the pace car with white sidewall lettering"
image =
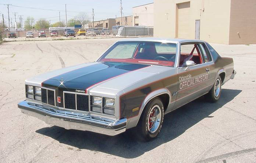
{"label": "black front tire of the pace car with white sidewall lettering", "polygon": [[[157,110],[159,110],[159,120],[156,120],[153,123],[154,125],[157,125],[156,129],[154,130],[153,128],[153,132],[150,131],[149,125],[152,122],[149,122],[149,118],[150,118],[150,112],[152,113],[152,110],[156,108]],[[156,115],[156,113],[155,113]],[[145,106],[144,111],[142,112],[141,118],[136,126],[136,135],[139,138],[139,140],[141,141],[150,141],[153,140],[154,138],[157,137],[157,135],[160,133],[161,127],[162,127],[162,123],[164,120],[164,106],[163,106],[163,102],[159,99],[159,98],[154,98],[151,101],[149,101],[149,103]],[[159,123],[157,123],[159,122]]]}

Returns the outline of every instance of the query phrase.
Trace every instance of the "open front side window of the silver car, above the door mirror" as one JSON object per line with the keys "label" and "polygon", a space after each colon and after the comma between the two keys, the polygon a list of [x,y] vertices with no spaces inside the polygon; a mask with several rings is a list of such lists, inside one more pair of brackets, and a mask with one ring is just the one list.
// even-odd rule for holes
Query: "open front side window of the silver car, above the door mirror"
{"label": "open front side window of the silver car, above the door mirror", "polygon": [[186,61],[194,61],[195,65],[203,63],[198,44],[181,45],[179,67],[185,67]]}

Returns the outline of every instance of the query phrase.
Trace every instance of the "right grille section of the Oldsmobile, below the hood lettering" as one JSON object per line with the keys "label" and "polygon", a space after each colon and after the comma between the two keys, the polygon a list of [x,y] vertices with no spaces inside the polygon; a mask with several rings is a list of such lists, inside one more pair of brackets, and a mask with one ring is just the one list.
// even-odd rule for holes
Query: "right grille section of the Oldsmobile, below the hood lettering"
{"label": "right grille section of the Oldsmobile, below the hood lettering", "polygon": [[64,108],[89,112],[89,95],[64,92]]}

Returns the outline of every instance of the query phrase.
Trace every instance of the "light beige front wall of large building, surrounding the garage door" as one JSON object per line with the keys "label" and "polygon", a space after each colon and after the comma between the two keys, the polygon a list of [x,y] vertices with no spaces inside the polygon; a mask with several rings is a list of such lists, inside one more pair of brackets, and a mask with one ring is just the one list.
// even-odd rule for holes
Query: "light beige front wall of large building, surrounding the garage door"
{"label": "light beige front wall of large building, surrounding the garage door", "polygon": [[[175,38],[177,4],[189,0],[154,0],[154,36]],[[229,43],[231,0],[190,0],[189,33],[195,39],[195,20],[200,19],[200,40]]]}

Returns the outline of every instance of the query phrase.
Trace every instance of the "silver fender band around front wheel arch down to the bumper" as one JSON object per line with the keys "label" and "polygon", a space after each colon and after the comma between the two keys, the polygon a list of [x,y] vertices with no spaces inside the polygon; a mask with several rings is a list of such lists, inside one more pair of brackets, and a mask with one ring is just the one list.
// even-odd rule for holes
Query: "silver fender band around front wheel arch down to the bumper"
{"label": "silver fender band around front wheel arch down to the bumper", "polygon": [[[138,124],[138,122],[139,122],[139,119],[140,119],[140,117],[141,117],[141,114],[142,114],[143,110],[145,109],[145,106],[147,105],[147,103],[148,103],[151,99],[153,99],[153,98],[155,98],[155,97],[157,97],[157,96],[159,96],[159,95],[162,95],[162,94],[168,94],[168,95],[169,95],[169,97],[170,97],[170,99],[169,99],[169,104],[170,104],[170,102],[171,102],[171,93],[170,93],[170,91],[169,91],[167,88],[161,88],[161,89],[158,89],[158,90],[155,90],[155,91],[149,93],[149,94],[145,97],[145,99],[143,100],[143,102],[142,102],[142,104],[141,104],[141,107],[140,107],[140,109],[139,109],[139,114],[138,114],[137,116],[131,117],[131,118],[129,118],[129,119],[127,120],[127,129],[137,126],[137,124]],[[169,105],[169,104],[168,104],[168,105]],[[167,107],[168,107],[168,106],[167,106]]]}

